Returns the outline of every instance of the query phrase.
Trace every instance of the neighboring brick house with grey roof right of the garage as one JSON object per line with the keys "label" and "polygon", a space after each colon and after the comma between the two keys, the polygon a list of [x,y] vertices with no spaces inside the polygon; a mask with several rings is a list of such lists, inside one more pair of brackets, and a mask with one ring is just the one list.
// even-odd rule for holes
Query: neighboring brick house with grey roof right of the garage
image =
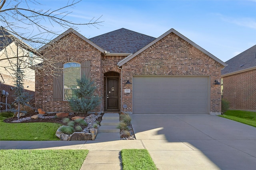
{"label": "neighboring brick house with grey roof right of the garage", "polygon": [[221,71],[230,109],[256,111],[256,45],[228,60]]}

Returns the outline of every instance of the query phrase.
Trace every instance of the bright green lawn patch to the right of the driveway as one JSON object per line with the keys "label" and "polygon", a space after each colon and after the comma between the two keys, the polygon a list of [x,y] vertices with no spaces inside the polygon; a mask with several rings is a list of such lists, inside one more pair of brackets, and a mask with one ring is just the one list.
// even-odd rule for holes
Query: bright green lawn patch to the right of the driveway
{"label": "bright green lawn patch to the right of the driveway", "polygon": [[256,127],[256,112],[253,111],[228,110],[219,116]]}

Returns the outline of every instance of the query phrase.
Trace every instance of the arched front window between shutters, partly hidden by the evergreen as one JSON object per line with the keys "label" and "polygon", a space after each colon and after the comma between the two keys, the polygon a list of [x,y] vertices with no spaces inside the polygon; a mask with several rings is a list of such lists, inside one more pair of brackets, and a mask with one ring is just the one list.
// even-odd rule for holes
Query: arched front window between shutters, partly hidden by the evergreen
{"label": "arched front window between shutters, partly hidden by the evergreen", "polygon": [[64,100],[69,100],[74,95],[72,89],[78,88],[77,79],[80,79],[80,64],[65,63],[63,70]]}

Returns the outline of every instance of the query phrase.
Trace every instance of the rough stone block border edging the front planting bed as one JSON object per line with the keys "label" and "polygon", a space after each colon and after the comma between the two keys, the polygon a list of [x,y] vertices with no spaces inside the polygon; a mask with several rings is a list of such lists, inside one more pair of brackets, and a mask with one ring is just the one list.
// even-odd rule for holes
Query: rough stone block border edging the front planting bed
{"label": "rough stone block border edging the front planting bed", "polygon": [[74,132],[71,135],[64,134],[60,127],[55,134],[61,141],[94,141],[98,135],[98,129],[90,129],[90,133]]}

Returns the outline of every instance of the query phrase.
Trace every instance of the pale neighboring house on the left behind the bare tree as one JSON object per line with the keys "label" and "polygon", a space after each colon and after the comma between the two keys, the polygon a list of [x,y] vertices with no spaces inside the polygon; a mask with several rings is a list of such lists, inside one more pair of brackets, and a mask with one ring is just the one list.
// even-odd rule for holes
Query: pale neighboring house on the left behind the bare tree
{"label": "pale neighboring house on the left behind the bare tree", "polygon": [[[35,51],[18,38],[14,37],[8,31],[0,29],[0,92],[5,90],[9,93],[7,103],[14,102],[14,84],[15,76],[14,69],[16,68],[17,56],[22,61],[24,71],[24,88],[26,92],[34,95],[35,92],[35,71],[29,68],[29,64],[34,62]],[[0,96],[0,102],[5,103],[6,98]],[[1,104],[2,109],[6,107]]]}

